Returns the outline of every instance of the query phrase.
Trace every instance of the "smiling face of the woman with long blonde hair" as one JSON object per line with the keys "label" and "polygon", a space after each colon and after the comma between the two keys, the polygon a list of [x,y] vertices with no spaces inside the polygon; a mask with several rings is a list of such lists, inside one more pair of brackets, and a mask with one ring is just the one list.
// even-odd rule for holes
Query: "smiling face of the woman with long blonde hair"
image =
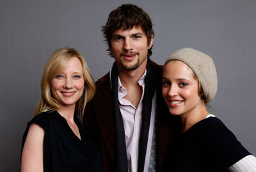
{"label": "smiling face of the woman with long blonde hair", "polygon": [[83,67],[78,58],[70,59],[60,72],[54,75],[51,91],[61,108],[76,107],[76,102],[84,91]]}

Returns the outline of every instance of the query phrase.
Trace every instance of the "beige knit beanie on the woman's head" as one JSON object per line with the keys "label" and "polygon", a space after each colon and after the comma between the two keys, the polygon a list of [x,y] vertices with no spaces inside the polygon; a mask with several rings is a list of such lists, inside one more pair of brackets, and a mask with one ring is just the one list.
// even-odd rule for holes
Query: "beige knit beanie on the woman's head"
{"label": "beige knit beanie on the woman's head", "polygon": [[198,77],[204,91],[205,102],[211,102],[215,97],[218,87],[217,72],[212,58],[204,52],[191,48],[179,49],[173,52],[165,61],[178,59],[188,65]]}

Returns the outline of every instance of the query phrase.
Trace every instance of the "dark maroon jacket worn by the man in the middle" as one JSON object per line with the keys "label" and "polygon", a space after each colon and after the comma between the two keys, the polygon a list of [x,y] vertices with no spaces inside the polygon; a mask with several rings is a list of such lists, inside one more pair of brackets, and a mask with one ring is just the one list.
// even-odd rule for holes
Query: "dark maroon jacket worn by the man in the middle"
{"label": "dark maroon jacket worn by the man in the middle", "polygon": [[[180,127],[179,120],[168,112],[162,93],[162,71],[152,61],[157,73],[157,171],[163,171],[164,159]],[[111,86],[109,73],[95,82],[97,91],[93,100],[88,102],[84,113],[83,123],[92,132],[92,137],[99,143],[102,153],[103,171],[116,171],[116,137],[113,109],[111,103]]]}

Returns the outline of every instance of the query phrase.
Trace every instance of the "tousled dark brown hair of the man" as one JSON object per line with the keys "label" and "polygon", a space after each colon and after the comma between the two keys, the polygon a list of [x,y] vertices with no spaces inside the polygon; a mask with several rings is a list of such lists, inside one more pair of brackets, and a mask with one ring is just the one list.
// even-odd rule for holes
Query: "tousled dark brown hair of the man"
{"label": "tousled dark brown hair of the man", "polygon": [[[154,36],[153,24],[150,17],[140,7],[134,4],[122,4],[115,10],[109,13],[108,21],[105,26],[102,26],[102,33],[105,41],[108,42],[109,56],[113,57],[111,48],[111,37],[116,29],[132,29],[132,27],[141,27],[142,31],[147,36],[148,45],[150,45],[152,35]],[[148,49],[148,57],[152,54],[152,47]]]}

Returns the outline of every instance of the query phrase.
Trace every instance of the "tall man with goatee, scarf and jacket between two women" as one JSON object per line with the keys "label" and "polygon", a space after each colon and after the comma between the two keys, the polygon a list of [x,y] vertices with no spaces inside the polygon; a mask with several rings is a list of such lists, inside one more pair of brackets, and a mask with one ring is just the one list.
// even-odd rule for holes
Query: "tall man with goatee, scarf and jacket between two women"
{"label": "tall man with goatee, scarf and jacket between two women", "polygon": [[163,171],[176,129],[161,96],[162,66],[149,59],[154,30],[147,13],[123,4],[102,26],[111,71],[96,82],[84,123],[99,141],[104,171]]}

